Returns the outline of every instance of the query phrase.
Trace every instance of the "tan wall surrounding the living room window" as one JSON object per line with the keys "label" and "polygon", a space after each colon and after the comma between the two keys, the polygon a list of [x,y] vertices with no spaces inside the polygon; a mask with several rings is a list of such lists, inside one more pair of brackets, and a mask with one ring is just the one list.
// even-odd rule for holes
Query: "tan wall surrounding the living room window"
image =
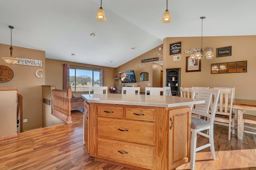
{"label": "tan wall surrounding the living room window", "polygon": [[[46,85],[55,85],[56,89],[63,89],[64,81],[64,66],[62,64],[76,65],[82,67],[91,67],[104,69],[104,86],[111,87],[114,84],[114,68],[102,67],[96,65],[88,65],[82,63],[73,63],[68,61],[60,61],[54,59],[46,59]],[[81,93],[76,93],[76,96],[80,96]]]}

